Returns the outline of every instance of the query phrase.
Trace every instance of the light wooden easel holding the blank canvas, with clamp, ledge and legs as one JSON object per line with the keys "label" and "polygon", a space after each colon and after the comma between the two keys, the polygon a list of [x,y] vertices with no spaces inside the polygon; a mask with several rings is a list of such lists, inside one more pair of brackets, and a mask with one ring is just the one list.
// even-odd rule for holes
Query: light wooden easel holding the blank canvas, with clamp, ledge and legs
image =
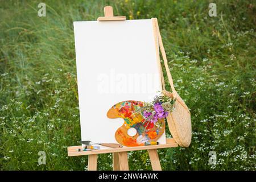
{"label": "light wooden easel holding the blank canvas, with clamp, ledge and legs", "polygon": [[[126,20],[125,16],[114,16],[112,6],[104,7],[105,16],[98,17],[98,21],[113,21],[113,20]],[[151,166],[154,171],[162,170],[159,158],[158,158],[158,148],[170,148],[177,147],[178,144],[173,138],[167,138],[166,144],[158,144],[155,146],[139,146],[139,147],[123,147],[123,148],[108,148],[102,150],[92,150],[92,151],[82,151],[78,152],[77,149],[81,146],[71,146],[68,147],[68,156],[80,156],[80,155],[89,155],[88,158],[88,170],[96,171],[97,170],[97,155],[113,153],[113,170],[119,171],[129,170],[127,152],[137,151],[137,150],[147,150],[148,155],[150,156]]]}

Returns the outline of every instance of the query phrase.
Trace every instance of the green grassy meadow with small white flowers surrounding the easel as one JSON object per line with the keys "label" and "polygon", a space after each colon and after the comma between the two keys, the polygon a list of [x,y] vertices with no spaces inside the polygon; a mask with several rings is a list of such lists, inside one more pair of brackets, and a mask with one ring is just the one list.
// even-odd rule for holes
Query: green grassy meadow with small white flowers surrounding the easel
{"label": "green grassy meadow with small white flowers surrounding the easel", "polygon": [[[67,156],[81,136],[73,21],[95,20],[105,5],[159,19],[177,92],[191,109],[191,146],[159,150],[162,168],[255,170],[255,1],[215,1],[217,17],[208,15],[212,1],[44,2],[39,18],[39,1],[0,1],[1,170],[87,168],[87,156]],[[129,165],[151,169],[146,151],[130,152]],[[110,154],[99,155],[98,169],[112,169]]]}

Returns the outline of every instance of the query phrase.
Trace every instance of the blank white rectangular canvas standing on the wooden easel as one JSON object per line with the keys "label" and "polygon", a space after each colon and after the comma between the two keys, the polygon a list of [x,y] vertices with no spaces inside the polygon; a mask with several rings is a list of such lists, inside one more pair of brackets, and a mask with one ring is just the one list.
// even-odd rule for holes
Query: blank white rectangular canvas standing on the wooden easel
{"label": "blank white rectangular canvas standing on the wooden easel", "polygon": [[124,121],[106,117],[110,107],[152,101],[160,90],[152,21],[74,22],[74,31],[81,139],[117,143]]}

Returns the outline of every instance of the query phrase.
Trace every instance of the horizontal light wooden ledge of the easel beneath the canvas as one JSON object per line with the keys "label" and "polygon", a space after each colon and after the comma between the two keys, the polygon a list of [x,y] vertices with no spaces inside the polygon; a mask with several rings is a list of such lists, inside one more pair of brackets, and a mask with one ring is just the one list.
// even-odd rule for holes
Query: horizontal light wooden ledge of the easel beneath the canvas
{"label": "horizontal light wooden ledge of the easel beneath the canvas", "polygon": [[108,149],[102,149],[102,150],[92,150],[92,151],[82,151],[82,152],[77,151],[77,149],[81,148],[81,146],[71,146],[71,147],[68,147],[68,156],[106,154],[106,153],[113,153],[113,152],[128,152],[128,151],[137,151],[137,150],[150,150],[150,149],[158,149],[158,148],[177,147],[177,146],[178,144],[175,142],[174,138],[167,138],[166,144],[158,144],[154,146],[108,148]]}

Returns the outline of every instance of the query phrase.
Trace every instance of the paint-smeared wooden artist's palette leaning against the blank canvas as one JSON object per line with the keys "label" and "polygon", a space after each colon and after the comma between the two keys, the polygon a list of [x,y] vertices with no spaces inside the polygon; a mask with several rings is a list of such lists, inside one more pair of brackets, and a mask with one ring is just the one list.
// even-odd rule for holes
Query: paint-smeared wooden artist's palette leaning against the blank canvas
{"label": "paint-smeared wooden artist's palette leaning against the blank canvas", "polygon": [[[123,146],[144,146],[145,142],[155,142],[164,133],[164,119],[158,119],[154,125],[144,119],[141,113],[135,112],[142,106],[144,102],[141,101],[123,101],[112,106],[107,113],[108,118],[123,118],[124,120],[123,125],[115,131],[115,139]],[[137,131],[133,137],[127,133],[132,127]]]}

